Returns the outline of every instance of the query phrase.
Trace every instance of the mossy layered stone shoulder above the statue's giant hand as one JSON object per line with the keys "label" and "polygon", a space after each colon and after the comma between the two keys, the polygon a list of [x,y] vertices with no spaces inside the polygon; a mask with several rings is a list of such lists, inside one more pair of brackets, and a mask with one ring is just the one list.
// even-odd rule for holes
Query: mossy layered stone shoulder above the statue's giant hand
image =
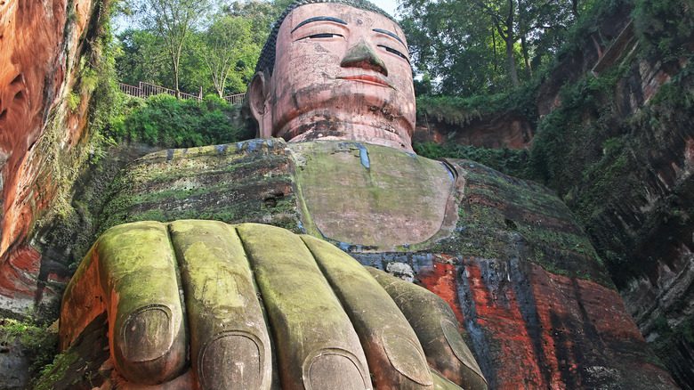
{"label": "mossy layered stone shoulder above the statue's giant hand", "polygon": [[139,158],[112,183],[101,232],[119,223],[190,218],[299,232],[285,148],[282,140],[253,140]]}

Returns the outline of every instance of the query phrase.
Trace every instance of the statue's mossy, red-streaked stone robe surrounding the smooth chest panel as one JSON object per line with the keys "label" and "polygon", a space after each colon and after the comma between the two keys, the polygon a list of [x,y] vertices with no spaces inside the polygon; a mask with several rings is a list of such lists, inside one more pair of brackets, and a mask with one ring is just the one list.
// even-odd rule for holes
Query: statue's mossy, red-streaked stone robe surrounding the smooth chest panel
{"label": "statue's mossy, red-streaked stone robe surrounding the smooth chest panel", "polygon": [[[314,150],[325,150],[327,144],[341,148],[341,142],[318,143]],[[391,148],[360,147],[367,150],[370,167],[364,167],[356,146],[348,151],[351,159],[330,152],[324,158],[371,175],[368,184],[354,181],[354,175],[340,180],[344,187],[371,189],[373,196],[382,183],[374,164],[395,158],[395,153],[421,159]],[[306,158],[311,155],[307,149],[311,143],[254,140],[141,158],[118,179],[122,190],[109,206],[111,215],[117,215],[112,221],[171,221],[185,215],[238,223],[242,213],[210,214],[210,205],[235,207],[236,199],[251,220],[301,232],[313,223],[311,208],[300,199],[303,175],[297,174],[316,160]],[[254,174],[253,167],[266,163],[272,167]],[[446,299],[464,324],[467,343],[493,388],[519,383],[533,388],[675,387],[667,371],[654,363],[590,241],[561,200],[542,186],[472,161],[448,161],[445,167],[456,180],[445,190],[456,199],[449,210],[455,215],[454,228],[448,233],[380,247],[345,242],[319,230],[312,234],[347,250],[361,264],[411,268],[416,282]],[[254,188],[252,183],[268,190],[244,190]],[[282,195],[277,191],[269,197],[276,185]],[[335,199],[335,207],[351,201]],[[348,214],[341,217],[351,226]],[[375,226],[382,222],[372,221]],[[416,220],[410,223],[417,226]]]}

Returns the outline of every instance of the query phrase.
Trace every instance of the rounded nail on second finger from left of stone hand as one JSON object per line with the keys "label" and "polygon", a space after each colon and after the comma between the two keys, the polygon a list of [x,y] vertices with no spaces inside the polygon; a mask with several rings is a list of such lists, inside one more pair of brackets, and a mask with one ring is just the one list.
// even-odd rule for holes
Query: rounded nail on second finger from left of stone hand
{"label": "rounded nail on second finger from left of stone hand", "polygon": [[264,357],[257,342],[243,335],[222,336],[208,344],[198,359],[204,389],[262,388]]}

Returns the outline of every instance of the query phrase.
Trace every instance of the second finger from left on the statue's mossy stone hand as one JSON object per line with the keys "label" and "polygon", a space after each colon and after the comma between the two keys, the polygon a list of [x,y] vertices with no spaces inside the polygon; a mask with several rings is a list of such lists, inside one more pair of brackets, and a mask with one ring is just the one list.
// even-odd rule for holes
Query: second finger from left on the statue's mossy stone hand
{"label": "second finger from left on the statue's mossy stone hand", "polygon": [[200,388],[269,389],[270,337],[236,230],[216,221],[177,221],[169,232]]}

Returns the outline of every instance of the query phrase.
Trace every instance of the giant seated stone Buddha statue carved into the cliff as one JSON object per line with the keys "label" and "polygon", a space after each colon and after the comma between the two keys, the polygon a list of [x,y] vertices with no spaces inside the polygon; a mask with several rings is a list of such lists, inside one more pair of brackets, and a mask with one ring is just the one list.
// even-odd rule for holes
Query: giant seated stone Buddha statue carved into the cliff
{"label": "giant seated stone Buddha statue carved into the cliff", "polygon": [[[100,372],[102,388],[671,385],[657,365],[642,364],[643,340],[623,306],[581,301],[618,296],[592,247],[567,239],[581,233],[558,199],[470,161],[412,151],[407,40],[373,4],[291,4],[263,48],[247,109],[265,141],[136,162],[123,191],[143,199],[185,183],[197,195],[149,204],[160,222],[104,232],[70,281],[61,347]],[[162,175],[145,177],[153,172]],[[273,211],[278,199],[289,207]],[[214,219],[206,207],[230,204],[242,212],[203,220]],[[176,210],[195,219],[174,221]],[[140,219],[133,215],[112,213],[119,222]],[[568,248],[521,235],[523,223],[546,220]],[[496,286],[491,296],[485,282]],[[564,313],[562,299],[583,312]],[[601,328],[603,315],[625,323],[620,335]],[[570,347],[553,339],[572,327],[581,335]],[[85,352],[99,345],[93,335],[108,347]],[[559,362],[549,348],[570,351]]]}

